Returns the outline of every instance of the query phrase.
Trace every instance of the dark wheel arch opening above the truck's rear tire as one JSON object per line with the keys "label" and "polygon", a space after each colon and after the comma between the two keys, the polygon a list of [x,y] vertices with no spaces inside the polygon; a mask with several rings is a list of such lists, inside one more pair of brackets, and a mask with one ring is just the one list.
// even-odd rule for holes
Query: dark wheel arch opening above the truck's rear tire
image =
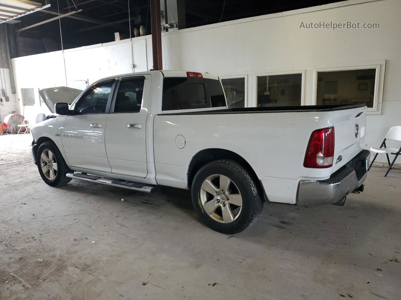
{"label": "dark wheel arch opening above the truck's rear tire", "polygon": [[202,168],[205,164],[209,162],[213,162],[214,160],[219,159],[229,159],[241,164],[241,166],[243,166],[247,170],[247,172],[249,172],[249,174],[255,181],[255,184],[261,192],[260,195],[265,198],[265,200],[267,200],[266,194],[263,190],[263,186],[259,178],[257,177],[255,170],[253,170],[252,166],[245,160],[245,158],[231,150],[221,148],[204,149],[199,151],[192,157],[187,172],[188,188],[191,188],[195,174],[200,168]]}

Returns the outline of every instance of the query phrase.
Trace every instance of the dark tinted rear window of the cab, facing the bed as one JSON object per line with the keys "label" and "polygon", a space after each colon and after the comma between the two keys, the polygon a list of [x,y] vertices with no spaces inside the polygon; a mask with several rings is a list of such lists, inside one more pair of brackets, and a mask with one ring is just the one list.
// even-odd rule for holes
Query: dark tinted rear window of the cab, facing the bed
{"label": "dark tinted rear window of the cab, facing the bed", "polygon": [[164,78],[162,110],[225,106],[219,80],[203,78]]}

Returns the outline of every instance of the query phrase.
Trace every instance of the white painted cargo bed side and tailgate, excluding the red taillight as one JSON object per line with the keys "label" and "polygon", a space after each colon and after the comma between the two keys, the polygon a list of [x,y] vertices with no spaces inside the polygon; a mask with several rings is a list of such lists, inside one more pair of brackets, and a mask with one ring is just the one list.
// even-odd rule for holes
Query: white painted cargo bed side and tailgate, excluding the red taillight
{"label": "white painted cargo bed side and tailgate, excluding the red taillight", "polygon": [[[219,148],[249,163],[272,202],[294,204],[300,180],[328,179],[363,149],[365,111],[365,104],[339,104],[157,114],[154,158],[158,183],[184,188],[192,158],[204,149]],[[305,168],[312,132],[327,127],[334,127],[335,134],[332,167]],[[183,148],[178,148],[177,141]]]}

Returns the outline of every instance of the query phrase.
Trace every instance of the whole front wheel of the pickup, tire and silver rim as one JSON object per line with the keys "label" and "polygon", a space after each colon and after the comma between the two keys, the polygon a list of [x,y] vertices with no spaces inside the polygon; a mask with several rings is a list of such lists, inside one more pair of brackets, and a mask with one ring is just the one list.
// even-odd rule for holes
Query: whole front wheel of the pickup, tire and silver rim
{"label": "whole front wheel of the pickup, tire and silver rim", "polygon": [[43,181],[49,186],[63,186],[71,181],[65,176],[69,168],[53,142],[44,142],[39,146],[36,164]]}

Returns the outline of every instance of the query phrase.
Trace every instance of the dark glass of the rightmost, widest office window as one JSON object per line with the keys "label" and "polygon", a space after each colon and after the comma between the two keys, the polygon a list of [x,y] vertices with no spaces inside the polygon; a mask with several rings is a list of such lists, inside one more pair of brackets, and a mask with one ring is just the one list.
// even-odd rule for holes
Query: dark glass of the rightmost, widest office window
{"label": "dark glass of the rightmost, widest office window", "polygon": [[373,107],[376,69],[317,73],[316,104],[360,104]]}

